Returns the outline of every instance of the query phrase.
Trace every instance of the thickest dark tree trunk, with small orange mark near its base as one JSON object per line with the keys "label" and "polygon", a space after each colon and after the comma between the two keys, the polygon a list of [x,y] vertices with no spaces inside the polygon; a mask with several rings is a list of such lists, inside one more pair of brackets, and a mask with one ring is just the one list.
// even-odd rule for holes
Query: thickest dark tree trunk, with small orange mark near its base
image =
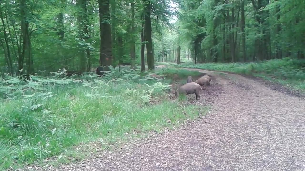
{"label": "thickest dark tree trunk, with small orange mark near its base", "polygon": [[100,23],[100,31],[101,31],[101,49],[100,49],[101,66],[110,66],[112,63],[111,26],[109,24],[109,21],[110,21],[109,0],[99,0],[99,23]]}

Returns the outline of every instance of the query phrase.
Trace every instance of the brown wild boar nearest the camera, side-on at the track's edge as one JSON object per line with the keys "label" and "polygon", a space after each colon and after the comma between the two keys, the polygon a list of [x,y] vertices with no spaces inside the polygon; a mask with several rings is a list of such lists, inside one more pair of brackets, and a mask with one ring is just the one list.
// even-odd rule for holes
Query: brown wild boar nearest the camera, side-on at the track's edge
{"label": "brown wild boar nearest the camera, side-on at the track's edge", "polygon": [[175,96],[178,97],[179,94],[193,94],[195,93],[196,95],[196,100],[200,99],[199,92],[202,90],[201,86],[197,84],[196,82],[189,82],[186,83],[185,85],[180,86],[176,91],[175,91]]}

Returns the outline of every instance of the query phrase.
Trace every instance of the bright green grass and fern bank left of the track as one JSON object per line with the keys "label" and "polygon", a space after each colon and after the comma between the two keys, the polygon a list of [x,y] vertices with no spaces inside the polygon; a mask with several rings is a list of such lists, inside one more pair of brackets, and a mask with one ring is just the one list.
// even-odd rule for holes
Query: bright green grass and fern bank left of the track
{"label": "bright green grass and fern bank left of the track", "polygon": [[197,106],[168,100],[170,79],[158,81],[138,73],[114,70],[102,79],[33,76],[28,83],[2,78],[0,170],[60,154],[71,156],[71,147],[80,143],[99,140],[107,145],[135,129],[160,131],[198,116]]}

